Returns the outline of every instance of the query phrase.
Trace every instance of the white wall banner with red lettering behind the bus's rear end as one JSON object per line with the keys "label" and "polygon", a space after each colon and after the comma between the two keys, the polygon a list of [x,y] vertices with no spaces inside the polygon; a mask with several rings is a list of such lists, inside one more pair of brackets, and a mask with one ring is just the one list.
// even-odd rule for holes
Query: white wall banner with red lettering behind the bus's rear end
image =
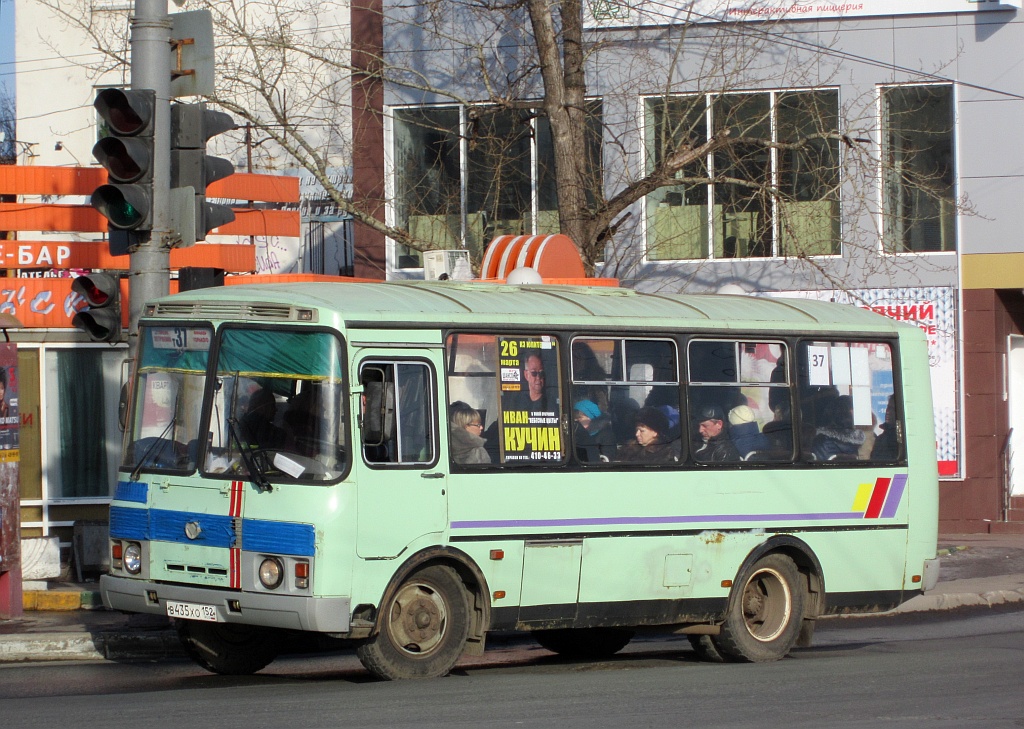
{"label": "white wall banner with red lettering behind the bus's rear end", "polygon": [[[783,291],[765,294],[780,298],[836,301],[870,309],[912,324],[928,337],[928,359],[935,406],[935,446],[939,475],[959,476],[959,402],[956,378],[956,296],[951,287],[855,289],[850,291]],[[876,406],[881,402],[874,403]]]}

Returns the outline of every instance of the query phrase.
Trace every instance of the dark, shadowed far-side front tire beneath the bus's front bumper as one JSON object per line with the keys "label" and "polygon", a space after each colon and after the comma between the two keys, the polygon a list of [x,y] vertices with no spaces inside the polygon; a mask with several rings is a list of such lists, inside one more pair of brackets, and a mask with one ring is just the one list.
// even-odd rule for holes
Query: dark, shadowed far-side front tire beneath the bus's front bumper
{"label": "dark, shadowed far-side front tire beneath the bus's front bumper", "polygon": [[188,657],[214,674],[255,674],[281,652],[281,634],[269,628],[199,620],[178,620],[177,626]]}

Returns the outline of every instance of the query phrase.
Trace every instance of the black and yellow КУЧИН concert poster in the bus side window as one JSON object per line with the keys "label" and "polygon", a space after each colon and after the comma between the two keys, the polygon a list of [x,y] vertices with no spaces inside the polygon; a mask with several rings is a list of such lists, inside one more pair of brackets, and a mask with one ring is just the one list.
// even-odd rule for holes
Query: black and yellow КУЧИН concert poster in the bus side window
{"label": "black and yellow \u041a\u0423\u0427\u0418\u041d concert poster in the bus side window", "polygon": [[558,343],[552,337],[500,337],[504,462],[560,461]]}

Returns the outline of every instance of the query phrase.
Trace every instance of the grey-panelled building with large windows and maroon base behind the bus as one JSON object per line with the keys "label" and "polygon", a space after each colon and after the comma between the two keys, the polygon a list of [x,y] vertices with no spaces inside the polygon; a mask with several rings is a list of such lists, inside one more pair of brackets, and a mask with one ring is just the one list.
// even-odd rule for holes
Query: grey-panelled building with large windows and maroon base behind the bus
{"label": "grey-panelled building with large windows and maroon base behind the bus", "polygon": [[[599,195],[638,184],[681,140],[709,149],[630,206],[594,258],[644,291],[846,300],[922,327],[942,528],[1015,528],[1024,19],[995,2],[905,10],[585,3]],[[384,149],[356,160],[356,198],[383,190],[389,223],[476,256],[498,234],[558,231],[529,18],[387,2],[354,8],[353,27],[360,17],[383,18],[388,81],[354,106],[356,148]],[[723,134],[741,143],[716,147]],[[389,277],[422,275],[415,251],[356,245]]]}

